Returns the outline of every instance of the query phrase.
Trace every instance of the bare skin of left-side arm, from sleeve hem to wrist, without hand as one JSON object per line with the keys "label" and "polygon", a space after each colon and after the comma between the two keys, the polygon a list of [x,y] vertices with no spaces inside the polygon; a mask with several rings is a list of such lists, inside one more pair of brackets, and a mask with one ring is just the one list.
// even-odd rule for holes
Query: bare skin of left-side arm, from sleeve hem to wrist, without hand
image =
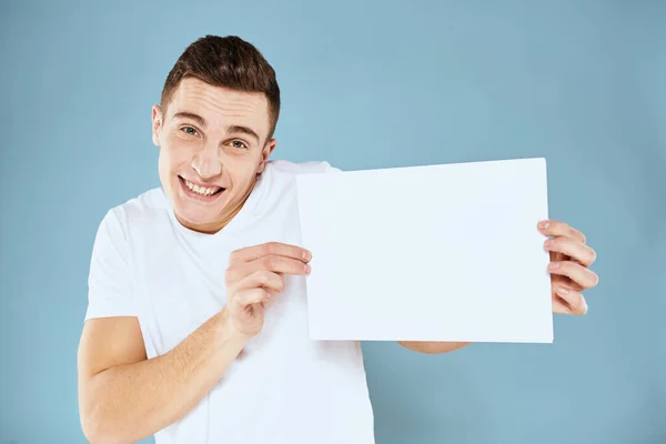
{"label": "bare skin of left-side arm, from sleeve hem to wrist, without hand", "polygon": [[138,442],[191,411],[246,343],[226,319],[222,311],[150,360],[137,317],[87,321],[79,347],[79,404],[88,441]]}

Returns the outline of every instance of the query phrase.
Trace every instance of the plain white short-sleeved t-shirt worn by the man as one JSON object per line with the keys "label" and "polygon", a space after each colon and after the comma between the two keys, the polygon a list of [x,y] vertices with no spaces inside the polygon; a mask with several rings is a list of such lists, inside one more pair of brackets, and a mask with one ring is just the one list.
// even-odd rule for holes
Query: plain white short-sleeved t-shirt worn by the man
{"label": "plain white short-sleeved t-shirt worn by the man", "polygon": [[[115,206],[94,242],[85,319],[138,316],[148,357],[167,353],[223,307],[232,251],[305,246],[295,175],[335,171],[269,162],[240,213],[212,235],[182,226],[161,188]],[[158,444],[374,443],[361,345],[310,341],[305,279],[286,278],[246,353],[182,421],[155,434]]]}

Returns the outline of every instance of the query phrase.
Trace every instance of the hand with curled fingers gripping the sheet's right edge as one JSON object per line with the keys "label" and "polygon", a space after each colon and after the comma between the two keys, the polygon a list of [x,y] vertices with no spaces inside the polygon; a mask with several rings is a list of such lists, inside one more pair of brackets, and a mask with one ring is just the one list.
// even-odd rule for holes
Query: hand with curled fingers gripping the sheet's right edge
{"label": "hand with curled fingers gripping the sheet's right edge", "polygon": [[542,221],[538,230],[551,236],[544,248],[551,252],[551,289],[553,313],[585,314],[587,302],[582,292],[596,286],[599,279],[589,266],[596,252],[585,242],[585,235],[564,222]]}

